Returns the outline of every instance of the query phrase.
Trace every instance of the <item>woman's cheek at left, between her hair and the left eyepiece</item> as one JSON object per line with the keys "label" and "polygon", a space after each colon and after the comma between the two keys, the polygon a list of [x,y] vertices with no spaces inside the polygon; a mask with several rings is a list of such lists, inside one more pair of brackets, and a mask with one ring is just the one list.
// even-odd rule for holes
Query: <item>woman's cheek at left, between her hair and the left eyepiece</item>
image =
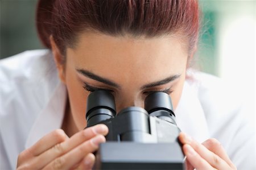
{"label": "woman's cheek at left, between her hair and the left eyepiece", "polygon": [[68,69],[66,70],[66,85],[72,118],[76,127],[81,130],[86,126],[86,99],[89,93],[82,88],[82,83],[77,80],[76,74]]}

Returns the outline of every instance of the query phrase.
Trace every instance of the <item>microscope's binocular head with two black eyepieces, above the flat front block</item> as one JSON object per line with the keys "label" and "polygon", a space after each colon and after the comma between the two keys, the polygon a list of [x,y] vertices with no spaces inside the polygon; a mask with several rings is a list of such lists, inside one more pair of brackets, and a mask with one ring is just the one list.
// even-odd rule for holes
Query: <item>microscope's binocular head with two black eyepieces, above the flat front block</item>
{"label": "microscope's binocular head with two black eyepieces, above the flat front block", "polygon": [[86,121],[87,127],[98,123],[108,126],[107,141],[174,142],[179,134],[171,98],[163,92],[148,95],[144,109],[132,106],[116,114],[113,95],[98,90],[88,97]]}

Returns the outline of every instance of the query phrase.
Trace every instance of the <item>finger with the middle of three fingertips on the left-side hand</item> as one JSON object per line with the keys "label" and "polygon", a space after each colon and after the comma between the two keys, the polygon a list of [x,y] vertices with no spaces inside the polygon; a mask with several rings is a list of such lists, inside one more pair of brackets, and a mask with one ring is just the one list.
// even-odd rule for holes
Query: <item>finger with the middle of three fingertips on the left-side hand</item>
{"label": "finger with the middle of three fingertips on the left-side hand", "polygon": [[103,135],[94,136],[67,154],[57,157],[43,169],[70,169],[78,164],[85,155],[96,151],[99,144],[105,141],[106,139]]}

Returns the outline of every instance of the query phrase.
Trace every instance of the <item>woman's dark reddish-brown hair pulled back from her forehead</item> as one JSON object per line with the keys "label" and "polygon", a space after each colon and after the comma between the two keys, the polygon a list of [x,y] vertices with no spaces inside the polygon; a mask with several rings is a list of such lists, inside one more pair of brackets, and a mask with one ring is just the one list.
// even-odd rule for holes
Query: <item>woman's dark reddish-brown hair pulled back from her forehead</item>
{"label": "woman's dark reddish-brown hair pulled back from her forehead", "polygon": [[39,0],[36,26],[43,44],[51,48],[52,35],[63,54],[86,30],[147,38],[179,32],[191,52],[198,39],[199,10],[197,0]]}

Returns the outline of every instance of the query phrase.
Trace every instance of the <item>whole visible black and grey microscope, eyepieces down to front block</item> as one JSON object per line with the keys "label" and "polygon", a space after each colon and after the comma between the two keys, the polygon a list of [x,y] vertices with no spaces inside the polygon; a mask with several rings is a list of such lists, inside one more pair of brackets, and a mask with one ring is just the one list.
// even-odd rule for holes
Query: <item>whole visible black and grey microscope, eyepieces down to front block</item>
{"label": "whole visible black and grey microscope, eyepieces down to front block", "polygon": [[180,129],[168,94],[151,93],[144,109],[127,107],[116,115],[114,96],[98,90],[89,95],[86,108],[87,127],[103,123],[109,128],[94,168],[184,169]]}

